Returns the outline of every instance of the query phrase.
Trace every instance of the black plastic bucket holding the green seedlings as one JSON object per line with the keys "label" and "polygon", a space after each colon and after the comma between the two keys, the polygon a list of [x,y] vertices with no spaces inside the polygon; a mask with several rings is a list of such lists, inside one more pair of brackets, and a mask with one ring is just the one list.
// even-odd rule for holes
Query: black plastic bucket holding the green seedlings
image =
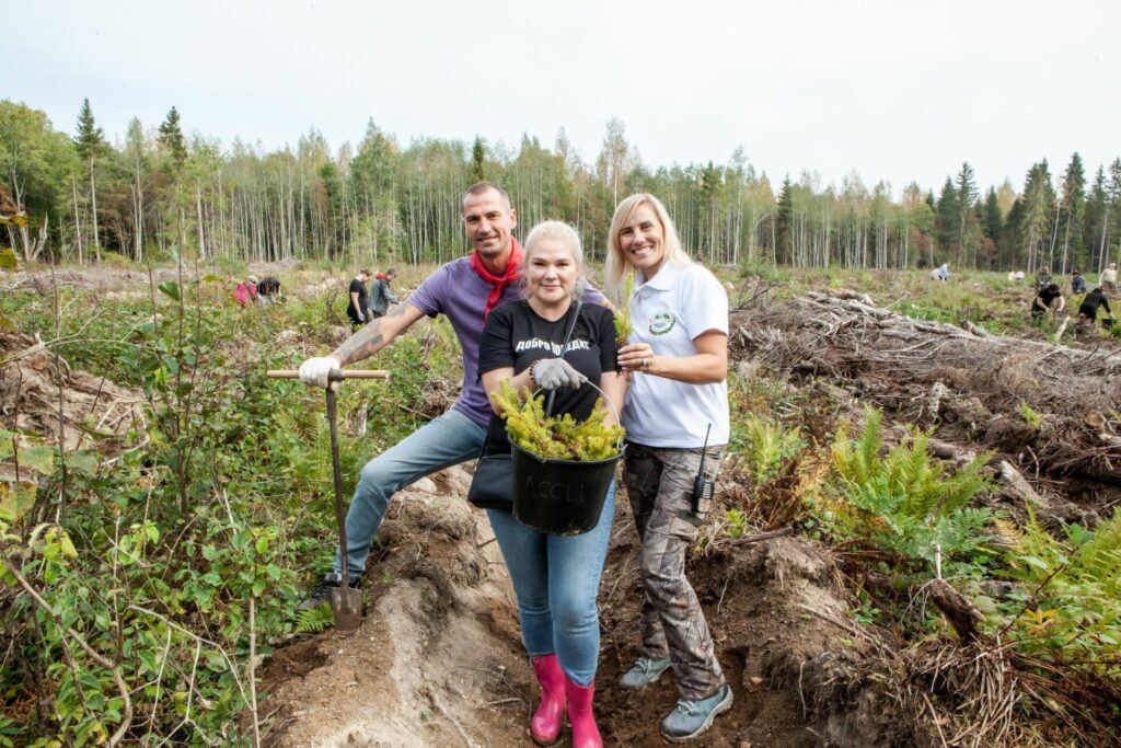
{"label": "black plastic bucket holding the green seedlings", "polygon": [[581,535],[595,528],[622,451],[605,460],[549,460],[510,441],[513,455],[513,517],[550,535]]}

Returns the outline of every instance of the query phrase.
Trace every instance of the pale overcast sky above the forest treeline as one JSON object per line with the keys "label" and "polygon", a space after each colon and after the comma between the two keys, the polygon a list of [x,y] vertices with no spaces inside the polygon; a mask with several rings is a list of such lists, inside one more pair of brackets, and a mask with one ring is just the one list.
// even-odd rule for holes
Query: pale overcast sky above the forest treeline
{"label": "pale overcast sky above the forest treeline", "polygon": [[332,148],[373,121],[416,138],[552,148],[594,163],[611,118],[650,168],[743,148],[777,185],[856,174],[984,190],[1081,154],[1121,156],[1121,2],[1021,0],[0,0],[0,99],[111,140],[155,128]]}

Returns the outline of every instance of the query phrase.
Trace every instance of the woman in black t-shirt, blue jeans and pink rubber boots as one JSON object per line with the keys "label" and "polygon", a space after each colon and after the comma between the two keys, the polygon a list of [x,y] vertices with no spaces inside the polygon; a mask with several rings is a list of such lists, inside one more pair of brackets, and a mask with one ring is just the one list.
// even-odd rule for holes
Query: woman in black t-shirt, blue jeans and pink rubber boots
{"label": "woman in black t-shirt, blue jeans and pink rubber boots", "polygon": [[[519,391],[552,389],[553,414],[571,413],[580,421],[591,415],[599,397],[593,387],[581,385],[589,380],[617,408],[609,416],[613,423],[627,384],[615,367],[611,312],[574,302],[583,273],[580,237],[566,223],[546,221],[529,232],[525,252],[525,298],[493,310],[483,329],[479,348],[483,387],[488,395],[502,381]],[[572,336],[563,345],[569,327]],[[487,449],[510,451],[504,423],[497,415],[491,418]],[[521,638],[541,685],[541,702],[530,722],[539,745],[556,739],[566,696],[573,745],[602,745],[592,714],[600,653],[595,597],[611,536],[614,493],[612,481],[599,524],[575,536],[539,533],[509,511],[487,510],[517,593]]]}

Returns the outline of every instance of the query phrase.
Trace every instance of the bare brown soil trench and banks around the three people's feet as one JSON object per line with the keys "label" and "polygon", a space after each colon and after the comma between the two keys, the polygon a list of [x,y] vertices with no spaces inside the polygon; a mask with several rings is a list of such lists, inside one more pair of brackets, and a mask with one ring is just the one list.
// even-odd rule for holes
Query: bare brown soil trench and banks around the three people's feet
{"label": "bare brown soil trench and banks around the three people's feet", "polygon": [[[395,498],[360,629],[278,648],[265,663],[266,745],[532,745],[537,686],[498,545],[485,515],[462,498],[469,479],[453,468],[421,484],[432,492]],[[615,685],[637,654],[641,583],[626,501],[614,521],[600,590],[599,724],[608,746],[668,745],[659,722],[676,702],[673,678],[639,693]],[[851,624],[827,552],[798,537],[691,560],[735,694],[693,745],[914,745],[862,674],[867,653],[842,628]]]}

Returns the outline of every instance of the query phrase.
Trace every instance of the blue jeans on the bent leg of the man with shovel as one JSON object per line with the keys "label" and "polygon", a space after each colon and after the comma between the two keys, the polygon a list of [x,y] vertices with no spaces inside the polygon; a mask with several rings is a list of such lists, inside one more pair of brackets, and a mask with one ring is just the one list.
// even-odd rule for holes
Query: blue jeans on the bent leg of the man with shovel
{"label": "blue jeans on the bent leg of the man with shovel", "polygon": [[[354,576],[365,571],[370,543],[381,526],[393,493],[429,473],[474,460],[487,430],[458,410],[433,418],[362,468],[346,512],[346,566]],[[342,569],[335,553],[335,571]]]}

